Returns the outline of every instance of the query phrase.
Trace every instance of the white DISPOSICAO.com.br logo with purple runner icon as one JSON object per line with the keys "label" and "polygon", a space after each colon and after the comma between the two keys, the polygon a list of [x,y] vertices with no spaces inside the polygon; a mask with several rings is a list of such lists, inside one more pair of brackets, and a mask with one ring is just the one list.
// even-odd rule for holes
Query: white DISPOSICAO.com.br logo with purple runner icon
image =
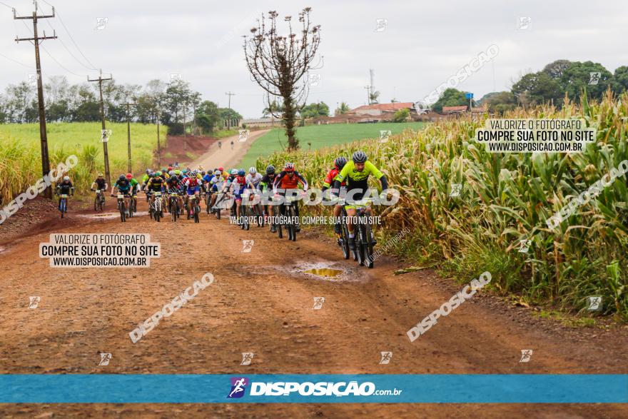
{"label": "white DISPOSICAO.com.br logo with purple runner icon", "polygon": [[[241,398],[245,395],[249,381],[245,377],[232,377],[231,390],[227,398]],[[340,381],[338,383],[328,381],[277,381],[250,383],[250,396],[370,396],[370,395],[400,395],[402,390],[377,390],[375,384],[370,381],[358,383],[358,381]]]}

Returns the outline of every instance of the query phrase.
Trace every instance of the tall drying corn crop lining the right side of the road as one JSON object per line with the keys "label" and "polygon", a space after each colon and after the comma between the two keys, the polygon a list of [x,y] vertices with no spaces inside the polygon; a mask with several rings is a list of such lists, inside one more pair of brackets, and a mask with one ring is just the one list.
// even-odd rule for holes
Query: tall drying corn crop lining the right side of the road
{"label": "tall drying corn crop lining the right side of the road", "polygon": [[[350,158],[362,149],[385,173],[389,187],[401,192],[395,206],[375,207],[385,221],[379,235],[412,230],[396,248],[400,255],[460,278],[490,271],[498,292],[568,311],[587,313],[587,297],[602,296],[604,314],[628,320],[626,175],[557,228],[545,223],[628,159],[628,94],[617,98],[609,92],[592,104],[565,101],[561,109],[517,108],[503,117],[583,118],[597,128],[597,143],[583,153],[487,153],[472,138],[489,116],[467,116],[405,131],[386,143],[275,153],[258,159],[257,166],[293,161],[320,187],[335,157]],[[462,184],[457,198],[449,196],[452,183]],[[519,252],[522,240],[531,241],[527,253]]]}

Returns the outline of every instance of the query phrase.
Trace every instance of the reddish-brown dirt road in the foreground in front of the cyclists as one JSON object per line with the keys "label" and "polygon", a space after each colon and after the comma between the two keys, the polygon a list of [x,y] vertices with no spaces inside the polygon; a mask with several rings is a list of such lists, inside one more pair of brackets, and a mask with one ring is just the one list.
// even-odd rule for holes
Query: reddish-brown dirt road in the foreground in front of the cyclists
{"label": "reddish-brown dirt road in the foreground in front of the cyclists", "polygon": [[[146,204],[141,203],[140,210]],[[411,343],[406,331],[460,286],[433,271],[394,276],[345,261],[315,229],[296,243],[267,228],[245,232],[203,213],[201,223],[148,216],[69,214],[0,253],[0,373],[628,373],[627,331],[567,329],[480,293]],[[49,233],[150,233],[151,268],[50,268]],[[242,253],[243,239],[255,242]],[[301,273],[344,271],[338,280]],[[213,285],[138,343],[128,332],[211,272]],[[479,272],[470,272],[468,280]],[[40,296],[29,309],[29,296]],[[313,298],[324,296],[320,310]],[[533,349],[519,363],[522,349]],[[380,365],[380,351],[390,364]],[[99,353],[111,363],[98,366]],[[241,353],[253,352],[251,365]],[[627,418],[625,405],[2,405],[4,417]]]}

